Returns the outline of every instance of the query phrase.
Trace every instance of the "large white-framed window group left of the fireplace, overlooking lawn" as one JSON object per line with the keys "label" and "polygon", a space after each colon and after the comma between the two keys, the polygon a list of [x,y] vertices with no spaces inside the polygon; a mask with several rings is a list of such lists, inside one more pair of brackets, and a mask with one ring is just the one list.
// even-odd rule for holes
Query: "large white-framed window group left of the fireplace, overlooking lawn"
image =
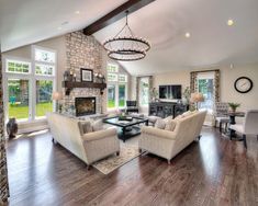
{"label": "large white-framed window group left of the fireplace, overlooking lawn", "polygon": [[32,47],[32,59],[5,58],[3,72],[5,117],[33,121],[52,112],[55,89],[56,53]]}

